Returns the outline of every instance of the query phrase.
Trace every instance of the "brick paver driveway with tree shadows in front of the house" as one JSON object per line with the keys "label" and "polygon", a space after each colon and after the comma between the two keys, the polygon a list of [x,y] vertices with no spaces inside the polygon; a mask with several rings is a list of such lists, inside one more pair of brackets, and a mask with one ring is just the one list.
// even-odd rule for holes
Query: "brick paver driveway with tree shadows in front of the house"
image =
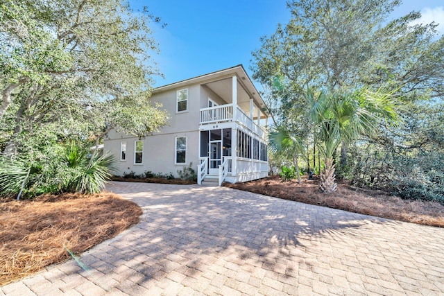
{"label": "brick paver driveway with tree shadows in front of the house", "polygon": [[444,295],[444,229],[221,187],[116,182],[138,225],[0,295]]}

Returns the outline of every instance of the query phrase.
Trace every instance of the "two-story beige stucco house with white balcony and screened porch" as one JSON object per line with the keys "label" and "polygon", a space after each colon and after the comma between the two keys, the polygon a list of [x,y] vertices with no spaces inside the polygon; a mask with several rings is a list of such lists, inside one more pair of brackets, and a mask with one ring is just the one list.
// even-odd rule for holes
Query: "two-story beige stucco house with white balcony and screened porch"
{"label": "two-story beige stucco house with white balcony and screened porch", "polygon": [[138,139],[112,130],[104,149],[119,171],[173,173],[193,163],[203,180],[246,182],[268,175],[268,113],[244,67],[223,69],[153,89],[170,121]]}

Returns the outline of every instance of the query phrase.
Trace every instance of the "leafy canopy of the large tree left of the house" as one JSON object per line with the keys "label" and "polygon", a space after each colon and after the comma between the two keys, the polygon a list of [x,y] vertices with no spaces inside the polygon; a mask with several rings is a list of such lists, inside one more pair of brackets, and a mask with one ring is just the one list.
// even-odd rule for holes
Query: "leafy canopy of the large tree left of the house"
{"label": "leafy canopy of the large tree left of the house", "polygon": [[20,153],[37,129],[100,141],[113,128],[142,137],[166,124],[148,100],[151,21],[121,0],[1,2],[1,151]]}

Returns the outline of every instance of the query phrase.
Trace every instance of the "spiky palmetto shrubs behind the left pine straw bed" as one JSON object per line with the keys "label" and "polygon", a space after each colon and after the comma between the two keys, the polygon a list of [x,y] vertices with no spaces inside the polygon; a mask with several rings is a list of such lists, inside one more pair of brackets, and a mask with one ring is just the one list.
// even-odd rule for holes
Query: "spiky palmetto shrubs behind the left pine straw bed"
{"label": "spiky palmetto shrubs behind the left pine straw bed", "polygon": [[115,171],[111,156],[87,155],[86,148],[70,143],[67,148],[58,146],[46,149],[53,153],[33,159],[0,157],[0,191],[3,197],[17,195],[33,198],[44,193],[97,193]]}

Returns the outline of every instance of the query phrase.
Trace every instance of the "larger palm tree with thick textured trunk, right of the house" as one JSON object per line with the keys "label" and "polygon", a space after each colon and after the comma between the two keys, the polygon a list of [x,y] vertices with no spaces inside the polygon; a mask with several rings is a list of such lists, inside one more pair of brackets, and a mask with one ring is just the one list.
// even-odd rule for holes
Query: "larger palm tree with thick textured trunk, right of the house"
{"label": "larger palm tree with thick textured trunk, right of the house", "polygon": [[371,92],[360,89],[356,92],[336,92],[317,97],[309,90],[306,94],[311,121],[319,125],[323,141],[322,152],[325,157],[321,172],[321,189],[325,193],[336,191],[333,155],[342,142],[352,143],[358,137],[373,137],[377,125],[382,121],[397,124],[400,117],[397,106],[391,101],[391,94],[379,89]]}

